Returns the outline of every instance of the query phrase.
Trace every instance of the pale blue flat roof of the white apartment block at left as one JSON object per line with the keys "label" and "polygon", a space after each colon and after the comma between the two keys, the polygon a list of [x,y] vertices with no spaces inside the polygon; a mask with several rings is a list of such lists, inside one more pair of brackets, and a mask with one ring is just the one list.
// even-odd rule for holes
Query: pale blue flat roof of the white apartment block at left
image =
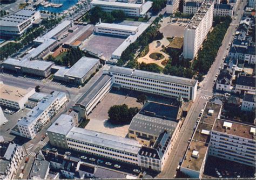
{"label": "pale blue flat roof of the white apartment block at left", "polygon": [[54,102],[56,99],[61,99],[64,96],[64,92],[53,92],[52,95],[48,95],[43,100],[41,100],[41,102],[39,102],[36,107],[34,107],[30,112],[28,112],[26,116],[21,118],[21,120],[18,121],[17,124],[28,126],[33,121],[37,120],[38,117],[41,116],[41,114],[45,111],[45,109],[52,104],[52,102]]}

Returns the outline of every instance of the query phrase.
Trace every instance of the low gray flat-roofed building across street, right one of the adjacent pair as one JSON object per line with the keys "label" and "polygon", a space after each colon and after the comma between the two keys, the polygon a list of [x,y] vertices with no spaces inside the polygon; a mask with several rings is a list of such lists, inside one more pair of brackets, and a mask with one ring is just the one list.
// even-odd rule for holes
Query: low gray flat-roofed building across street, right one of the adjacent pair
{"label": "low gray flat-roofed building across street, right one of the adjacent pair", "polygon": [[99,59],[81,57],[71,68],[59,67],[53,75],[55,80],[65,81],[72,84],[84,84],[99,68]]}

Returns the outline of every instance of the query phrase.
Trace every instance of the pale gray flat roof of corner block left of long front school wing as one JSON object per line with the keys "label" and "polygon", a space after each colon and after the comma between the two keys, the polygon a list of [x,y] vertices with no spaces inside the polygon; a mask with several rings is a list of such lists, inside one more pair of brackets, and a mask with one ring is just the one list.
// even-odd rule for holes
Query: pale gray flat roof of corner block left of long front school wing
{"label": "pale gray flat roof of corner block left of long front school wing", "polygon": [[74,126],[73,117],[62,114],[48,129],[48,132],[66,135]]}

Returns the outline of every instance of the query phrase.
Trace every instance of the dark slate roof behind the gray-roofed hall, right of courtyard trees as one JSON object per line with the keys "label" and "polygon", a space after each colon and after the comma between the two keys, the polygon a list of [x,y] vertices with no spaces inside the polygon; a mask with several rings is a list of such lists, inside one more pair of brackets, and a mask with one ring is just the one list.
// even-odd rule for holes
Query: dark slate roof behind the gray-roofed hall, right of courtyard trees
{"label": "dark slate roof behind the gray-roofed hall, right of courtyard trees", "polygon": [[155,102],[146,102],[139,113],[151,117],[176,120],[178,118],[179,107]]}

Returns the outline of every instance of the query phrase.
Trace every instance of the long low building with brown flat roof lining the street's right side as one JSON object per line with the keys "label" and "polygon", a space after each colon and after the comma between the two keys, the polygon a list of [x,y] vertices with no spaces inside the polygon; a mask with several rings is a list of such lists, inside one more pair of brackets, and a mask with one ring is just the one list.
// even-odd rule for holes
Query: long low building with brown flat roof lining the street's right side
{"label": "long low building with brown flat roof lining the street's right side", "polygon": [[207,102],[194,130],[181,163],[180,171],[191,178],[201,178],[208,157],[211,131],[216,118],[220,118],[222,105]]}

